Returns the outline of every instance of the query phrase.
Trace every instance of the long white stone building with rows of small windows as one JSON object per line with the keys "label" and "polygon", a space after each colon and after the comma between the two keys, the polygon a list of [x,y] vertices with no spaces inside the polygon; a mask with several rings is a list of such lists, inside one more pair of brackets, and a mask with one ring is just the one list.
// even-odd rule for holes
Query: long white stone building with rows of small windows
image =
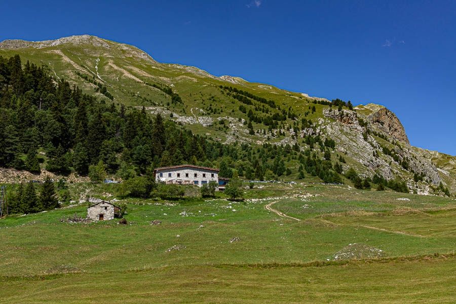
{"label": "long white stone building with rows of small windows", "polygon": [[218,184],[218,169],[181,165],[157,168],[154,170],[155,180],[167,184],[197,185],[215,181]]}

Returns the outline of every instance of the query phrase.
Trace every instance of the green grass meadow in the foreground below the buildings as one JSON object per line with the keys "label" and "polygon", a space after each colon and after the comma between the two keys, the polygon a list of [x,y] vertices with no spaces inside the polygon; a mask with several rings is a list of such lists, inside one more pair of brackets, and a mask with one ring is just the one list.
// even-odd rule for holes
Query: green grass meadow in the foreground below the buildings
{"label": "green grass meadow in the foreground below the buildings", "polygon": [[244,197],[129,200],[128,225],[59,221],[83,205],[2,219],[0,302],[456,301],[454,199],[264,183]]}

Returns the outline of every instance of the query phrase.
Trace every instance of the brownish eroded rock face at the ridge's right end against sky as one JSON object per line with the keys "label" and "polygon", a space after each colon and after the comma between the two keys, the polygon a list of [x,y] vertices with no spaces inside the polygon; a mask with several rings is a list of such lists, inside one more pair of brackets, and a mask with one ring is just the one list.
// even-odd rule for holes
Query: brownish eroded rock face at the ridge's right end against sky
{"label": "brownish eroded rock face at the ridge's right end against sky", "polygon": [[389,109],[382,107],[369,115],[367,121],[377,129],[410,145],[407,134],[405,134],[404,126],[402,126],[397,116]]}

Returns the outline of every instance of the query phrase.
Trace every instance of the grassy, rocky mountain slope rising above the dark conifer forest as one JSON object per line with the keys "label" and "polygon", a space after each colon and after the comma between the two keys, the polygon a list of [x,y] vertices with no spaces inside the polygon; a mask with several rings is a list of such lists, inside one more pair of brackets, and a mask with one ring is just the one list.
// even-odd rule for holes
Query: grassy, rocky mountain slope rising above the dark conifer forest
{"label": "grassy, rocky mountain slope rising above the dark conifer forest", "polygon": [[[332,158],[344,156],[344,171],[354,167],[364,177],[372,177],[374,173],[387,179],[399,177],[407,180],[409,188],[417,193],[432,193],[430,186],[440,182],[450,191],[456,190],[456,158],[410,146],[400,121],[382,106],[359,105],[356,112],[347,107],[335,112],[333,107],[332,116],[324,115],[329,107],[319,104],[327,102],[324,98],[249,83],[237,77],[215,77],[192,66],[160,63],[136,47],[89,35],[44,42],[8,40],[0,43],[0,56],[16,54],[21,56],[22,62],[29,60],[46,65],[56,80],[65,79],[106,103],[144,106],[151,114],[161,112],[194,133],[223,143],[298,143],[301,149],[307,149],[308,145],[301,138],[319,134],[336,141]],[[251,97],[248,100],[252,105],[242,103],[234,98],[236,93],[224,87],[242,90],[256,100],[272,100],[276,107]],[[263,122],[253,121],[255,132],[249,134],[249,110],[262,118],[283,111],[292,115],[273,130]],[[352,119],[339,119],[341,113]],[[303,126],[303,118],[313,124]],[[361,123],[358,119],[362,119]],[[384,148],[394,152],[385,153]],[[319,149],[314,150],[320,153]],[[299,163],[290,160],[286,165],[293,169],[289,178],[297,178]],[[424,176],[424,180],[413,181],[414,173]]]}

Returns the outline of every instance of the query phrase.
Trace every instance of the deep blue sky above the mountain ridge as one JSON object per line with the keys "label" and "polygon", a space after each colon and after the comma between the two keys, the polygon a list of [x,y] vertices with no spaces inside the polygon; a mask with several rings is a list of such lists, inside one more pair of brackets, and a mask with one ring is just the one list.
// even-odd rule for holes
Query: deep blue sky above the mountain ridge
{"label": "deep blue sky above the mountain ridge", "polygon": [[387,106],[456,155],[455,1],[8,1],[0,41],[92,34],[160,62]]}

